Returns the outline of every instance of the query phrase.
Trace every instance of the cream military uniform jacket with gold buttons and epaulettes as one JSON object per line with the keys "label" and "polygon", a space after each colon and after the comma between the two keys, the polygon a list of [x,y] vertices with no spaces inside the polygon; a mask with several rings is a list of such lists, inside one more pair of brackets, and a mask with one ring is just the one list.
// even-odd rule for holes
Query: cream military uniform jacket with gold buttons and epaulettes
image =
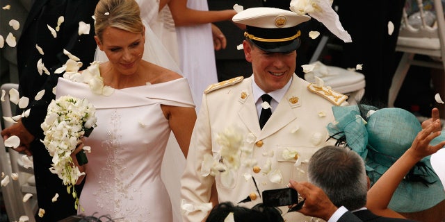
{"label": "cream military uniform jacket with gold buttons and epaulettes", "polygon": [[[347,96],[323,87],[317,94],[308,89],[309,83],[295,74],[288,91],[280,101],[272,116],[261,130],[259,117],[252,96],[252,76],[227,80],[211,85],[204,93],[202,107],[195,123],[188,151],[186,169],[181,178],[181,198],[184,203],[195,207],[193,212],[184,212],[184,221],[202,221],[209,212],[197,210],[209,203],[211,186],[216,182],[219,202],[231,201],[236,204],[252,192],[257,198],[248,203],[252,207],[261,203],[252,175],[257,182],[260,194],[266,189],[285,188],[289,179],[307,180],[307,160],[325,146],[328,138],[327,123],[334,121],[332,105],[341,104]],[[211,89],[215,87],[216,89]],[[212,91],[213,90],[213,91]],[[209,92],[210,91],[210,92]],[[337,96],[337,97],[336,97]],[[346,102],[344,102],[346,103]],[[234,182],[223,185],[220,175],[202,176],[202,162],[205,154],[220,160],[220,145],[216,135],[227,128],[236,127],[246,137],[244,146],[250,149],[252,161],[243,161],[234,171]],[[332,139],[328,142],[332,144]],[[284,154],[283,154],[284,153]],[[297,154],[289,158],[289,154]],[[245,152],[241,155],[245,155]],[[270,164],[268,164],[270,163]],[[255,173],[254,168],[261,169]],[[255,170],[257,171],[257,170]],[[280,176],[281,175],[281,176]],[[262,195],[262,194],[261,194]],[[288,208],[281,207],[283,213]],[[289,216],[291,219],[289,220]],[[285,215],[286,221],[302,221],[302,214],[291,212]]]}

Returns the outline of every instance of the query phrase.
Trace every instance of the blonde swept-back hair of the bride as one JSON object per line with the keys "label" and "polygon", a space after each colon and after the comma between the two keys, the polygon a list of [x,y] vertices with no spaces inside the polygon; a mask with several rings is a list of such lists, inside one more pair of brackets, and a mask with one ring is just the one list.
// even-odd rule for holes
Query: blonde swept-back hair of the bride
{"label": "blonde swept-back hair of the bride", "polygon": [[100,0],[96,6],[95,20],[95,33],[101,42],[102,34],[108,27],[144,33],[140,9],[134,0]]}

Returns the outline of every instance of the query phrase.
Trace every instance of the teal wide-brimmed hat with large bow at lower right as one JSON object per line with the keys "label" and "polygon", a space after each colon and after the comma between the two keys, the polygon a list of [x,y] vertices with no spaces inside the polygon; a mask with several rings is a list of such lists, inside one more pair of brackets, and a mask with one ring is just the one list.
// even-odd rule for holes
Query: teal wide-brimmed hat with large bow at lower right
{"label": "teal wide-brimmed hat with large bow at lower right", "polygon": [[[335,121],[327,126],[327,130],[335,139],[344,137],[347,145],[363,158],[371,186],[410,148],[422,130],[414,114],[401,108],[378,110],[369,105],[350,105],[332,107],[332,111]],[[445,132],[442,131],[430,144],[438,144],[444,139]],[[389,208],[396,212],[419,212],[444,199],[444,186],[428,156],[418,162],[398,185]]]}

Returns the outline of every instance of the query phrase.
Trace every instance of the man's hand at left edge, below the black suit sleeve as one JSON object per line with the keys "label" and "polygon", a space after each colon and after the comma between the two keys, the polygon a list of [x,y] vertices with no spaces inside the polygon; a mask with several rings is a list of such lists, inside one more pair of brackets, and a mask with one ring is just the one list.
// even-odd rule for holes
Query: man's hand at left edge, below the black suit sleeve
{"label": "man's hand at left edge, below the black suit sleeve", "polygon": [[31,142],[34,141],[35,137],[23,126],[22,119],[19,119],[19,121],[14,123],[13,126],[1,130],[1,137],[3,137],[3,141],[14,135],[20,139],[20,145],[17,146],[17,148],[14,148],[14,150],[26,155],[33,155],[29,146]]}

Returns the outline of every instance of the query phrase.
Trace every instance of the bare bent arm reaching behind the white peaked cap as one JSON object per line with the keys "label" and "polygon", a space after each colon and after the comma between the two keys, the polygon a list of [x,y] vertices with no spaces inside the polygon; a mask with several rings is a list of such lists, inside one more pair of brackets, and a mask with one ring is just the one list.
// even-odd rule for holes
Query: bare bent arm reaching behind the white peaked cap
{"label": "bare bent arm reaching behind the white peaked cap", "polygon": [[236,11],[228,10],[194,10],[187,8],[187,0],[170,0],[168,7],[175,20],[175,26],[193,26],[231,20]]}

